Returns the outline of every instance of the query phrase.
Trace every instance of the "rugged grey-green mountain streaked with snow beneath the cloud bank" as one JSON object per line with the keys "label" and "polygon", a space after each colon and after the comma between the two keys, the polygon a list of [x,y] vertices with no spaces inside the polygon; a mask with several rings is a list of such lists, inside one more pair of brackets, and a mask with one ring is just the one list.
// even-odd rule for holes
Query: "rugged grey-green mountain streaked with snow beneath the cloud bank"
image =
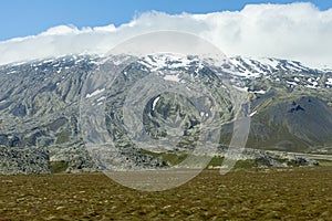
{"label": "rugged grey-green mountain streaked with snow beneath the cloud bank", "polygon": [[[95,105],[105,105],[107,131],[117,147],[116,155],[108,159],[111,165],[125,161],[123,169],[169,166],[156,154],[160,149],[135,148],[123,127],[121,109],[126,96],[152,72],[160,73],[166,81],[187,86],[199,81],[210,88],[222,108],[221,146],[229,145],[236,114],[234,97],[226,90],[229,82],[231,90],[248,93],[250,99],[247,148],[332,151],[331,70],[279,59],[236,56],[217,65],[195,56],[149,55],[126,66],[106,90],[107,97],[101,97],[101,91],[90,92],[84,85],[103,60],[97,55],[68,55],[0,66],[0,173],[44,173],[50,172],[50,165],[66,171],[106,167],[93,162],[81,133],[80,102],[90,97]],[[195,104],[206,109],[197,112]],[[165,125],[183,122],[184,136],[175,147],[164,150],[190,151],[199,131],[207,129],[199,127],[199,119],[201,114],[211,114],[209,108],[209,103],[199,98],[191,104],[174,93],[155,96],[144,106],[144,128],[148,136],[163,139],[169,135]]]}

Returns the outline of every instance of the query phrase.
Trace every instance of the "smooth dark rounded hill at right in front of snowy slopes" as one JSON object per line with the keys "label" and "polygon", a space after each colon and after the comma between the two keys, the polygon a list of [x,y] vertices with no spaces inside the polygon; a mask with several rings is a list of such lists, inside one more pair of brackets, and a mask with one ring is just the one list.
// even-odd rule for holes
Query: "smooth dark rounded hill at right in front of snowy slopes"
{"label": "smooth dark rounded hill at right in front of snowy slopes", "polygon": [[331,116],[332,108],[319,97],[302,95],[276,101],[253,117],[248,145],[284,151],[318,151],[314,147],[331,145]]}

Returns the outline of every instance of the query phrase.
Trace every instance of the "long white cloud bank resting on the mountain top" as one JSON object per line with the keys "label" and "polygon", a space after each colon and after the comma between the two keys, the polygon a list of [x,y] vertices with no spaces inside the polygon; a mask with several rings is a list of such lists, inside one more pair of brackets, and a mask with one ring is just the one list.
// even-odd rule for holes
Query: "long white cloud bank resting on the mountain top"
{"label": "long white cloud bank resting on the mountain top", "polygon": [[147,12],[115,28],[60,25],[0,42],[0,64],[71,53],[105,54],[125,39],[157,30],[197,34],[227,55],[272,56],[332,67],[332,9],[311,3],[250,4],[241,11],[169,15]]}

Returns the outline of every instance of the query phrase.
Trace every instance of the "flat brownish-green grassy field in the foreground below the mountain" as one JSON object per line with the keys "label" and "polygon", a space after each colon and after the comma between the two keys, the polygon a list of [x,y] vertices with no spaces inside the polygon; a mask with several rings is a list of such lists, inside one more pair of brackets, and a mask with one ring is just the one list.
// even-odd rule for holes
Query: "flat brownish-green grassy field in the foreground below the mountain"
{"label": "flat brownish-green grassy field in the foreground below the mountain", "polygon": [[162,192],[103,173],[1,176],[0,220],[332,220],[332,167],[205,170]]}

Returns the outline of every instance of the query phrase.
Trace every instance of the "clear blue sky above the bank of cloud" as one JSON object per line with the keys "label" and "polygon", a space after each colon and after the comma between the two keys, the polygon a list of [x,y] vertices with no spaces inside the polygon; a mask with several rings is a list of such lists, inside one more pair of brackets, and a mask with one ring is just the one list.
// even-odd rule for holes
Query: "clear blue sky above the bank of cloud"
{"label": "clear blue sky above the bank of cloud", "polygon": [[[169,14],[207,13],[241,10],[247,3],[290,3],[290,0],[1,0],[0,41],[38,34],[51,27],[120,25],[135,15],[151,11]],[[320,10],[331,8],[331,0],[312,0]]]}

